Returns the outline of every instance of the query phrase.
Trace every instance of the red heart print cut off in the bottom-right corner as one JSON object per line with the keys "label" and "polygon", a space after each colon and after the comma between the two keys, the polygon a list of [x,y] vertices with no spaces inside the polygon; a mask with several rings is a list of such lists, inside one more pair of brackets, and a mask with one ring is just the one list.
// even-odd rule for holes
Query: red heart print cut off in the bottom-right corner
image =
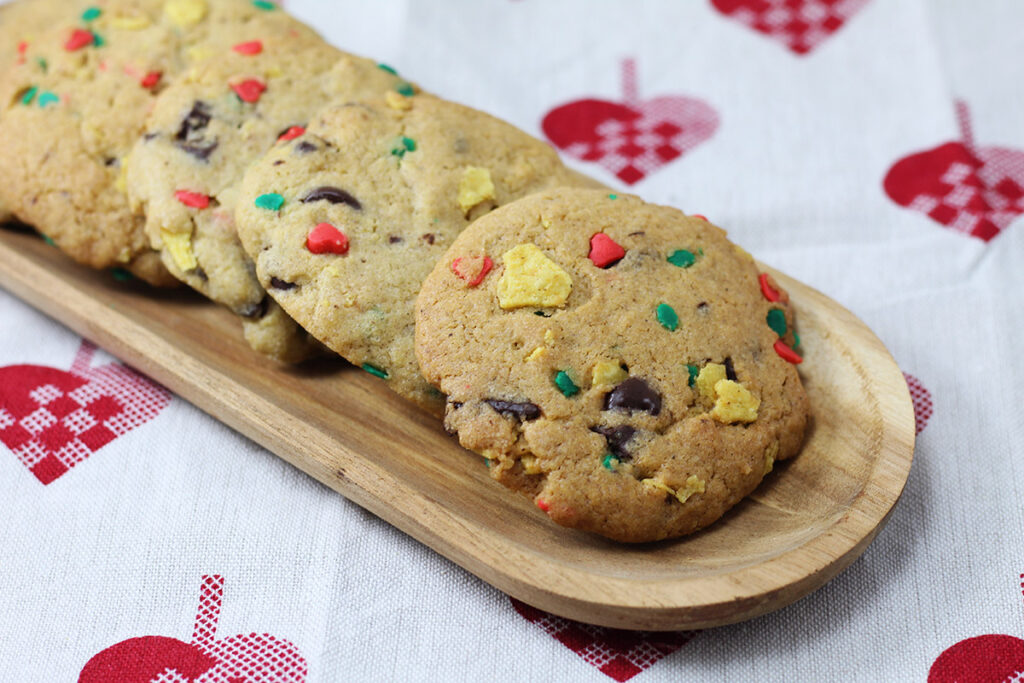
{"label": "red heart print cut off in the bottom-right corner", "polygon": [[[1020,575],[1024,593],[1024,573]],[[1024,640],[989,634],[959,641],[935,659],[928,683],[1009,683],[1024,679]]]}

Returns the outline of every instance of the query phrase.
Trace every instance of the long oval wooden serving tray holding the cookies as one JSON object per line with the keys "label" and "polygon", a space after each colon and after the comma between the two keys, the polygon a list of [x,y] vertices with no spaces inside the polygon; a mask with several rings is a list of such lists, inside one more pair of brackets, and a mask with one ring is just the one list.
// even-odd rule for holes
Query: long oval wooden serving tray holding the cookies
{"label": "long oval wooden serving tray holding the cookies", "polygon": [[643,546],[552,524],[490,480],[426,414],[340,360],[281,368],[238,321],[0,230],[0,285],[483,581],[539,608],[625,629],[697,629],[783,607],[856,559],[913,456],[903,375],[842,306],[774,270],[798,311],[814,411],[803,452],[705,531]]}

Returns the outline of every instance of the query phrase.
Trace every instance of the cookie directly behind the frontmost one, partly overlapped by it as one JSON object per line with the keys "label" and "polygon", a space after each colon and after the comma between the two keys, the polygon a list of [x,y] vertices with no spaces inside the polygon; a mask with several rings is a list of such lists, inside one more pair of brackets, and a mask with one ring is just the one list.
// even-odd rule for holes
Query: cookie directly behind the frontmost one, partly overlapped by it
{"label": "cookie directly behind the frontmost one, partly overlapped by it", "polygon": [[513,126],[426,94],[326,109],[247,173],[236,214],[260,283],[342,356],[440,415],[413,350],[413,301],[476,216],[593,182]]}

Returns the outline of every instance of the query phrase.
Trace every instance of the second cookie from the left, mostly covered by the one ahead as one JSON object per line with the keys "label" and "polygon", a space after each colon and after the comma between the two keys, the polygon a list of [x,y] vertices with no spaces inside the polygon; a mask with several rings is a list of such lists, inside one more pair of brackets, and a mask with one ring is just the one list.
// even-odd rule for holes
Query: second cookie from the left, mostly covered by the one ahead
{"label": "second cookie from the left, mostly covered by the one ahead", "polygon": [[273,310],[256,280],[234,229],[238,186],[250,163],[301,134],[324,102],[412,86],[322,40],[247,37],[157,97],[126,186],[168,270],[242,316],[257,351],[292,361],[310,350],[307,335]]}

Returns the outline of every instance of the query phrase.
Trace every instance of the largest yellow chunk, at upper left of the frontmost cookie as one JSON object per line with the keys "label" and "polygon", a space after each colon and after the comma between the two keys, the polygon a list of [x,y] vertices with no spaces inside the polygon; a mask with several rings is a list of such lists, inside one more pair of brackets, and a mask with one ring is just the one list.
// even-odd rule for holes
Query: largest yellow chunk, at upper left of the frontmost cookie
{"label": "largest yellow chunk, at upper left of the frontmost cookie", "polygon": [[505,310],[523,306],[561,306],[572,279],[536,245],[524,244],[502,255],[505,272],[498,282],[498,303]]}

